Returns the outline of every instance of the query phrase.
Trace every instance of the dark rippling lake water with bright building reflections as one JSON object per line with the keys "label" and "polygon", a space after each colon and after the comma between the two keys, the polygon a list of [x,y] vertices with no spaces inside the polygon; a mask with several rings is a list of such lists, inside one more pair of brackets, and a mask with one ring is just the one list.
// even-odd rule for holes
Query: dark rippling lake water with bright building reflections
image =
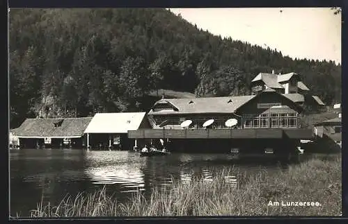
{"label": "dark rippling lake water with bright building reflections", "polygon": [[[28,216],[41,199],[57,205],[67,193],[93,192],[105,184],[122,201],[130,192],[170,187],[173,180],[185,183],[195,175],[209,182],[224,168],[248,175],[286,166],[279,166],[269,156],[238,160],[226,154],[140,157],[132,151],[10,150],[10,215]],[[226,176],[231,184],[235,183],[235,174]]]}

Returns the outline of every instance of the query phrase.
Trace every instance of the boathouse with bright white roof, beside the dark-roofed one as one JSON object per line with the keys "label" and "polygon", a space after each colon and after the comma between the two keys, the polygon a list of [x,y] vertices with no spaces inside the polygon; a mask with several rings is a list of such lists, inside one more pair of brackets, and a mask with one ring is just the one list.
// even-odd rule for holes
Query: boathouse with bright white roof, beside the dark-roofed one
{"label": "boathouse with bright white roof, beside the dark-roofed one", "polygon": [[[127,137],[129,130],[150,128],[145,112],[97,113],[84,133],[88,148],[116,148],[130,150],[134,140]],[[135,142],[136,146],[136,142]]]}

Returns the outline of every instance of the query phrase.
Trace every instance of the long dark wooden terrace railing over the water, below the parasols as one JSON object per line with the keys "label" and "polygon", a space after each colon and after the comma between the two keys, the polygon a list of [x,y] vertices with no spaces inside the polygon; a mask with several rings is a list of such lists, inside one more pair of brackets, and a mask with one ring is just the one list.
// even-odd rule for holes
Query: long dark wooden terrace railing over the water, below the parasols
{"label": "long dark wooden terrace railing over the water, below the parasols", "polygon": [[129,139],[313,139],[311,129],[140,129],[128,131]]}

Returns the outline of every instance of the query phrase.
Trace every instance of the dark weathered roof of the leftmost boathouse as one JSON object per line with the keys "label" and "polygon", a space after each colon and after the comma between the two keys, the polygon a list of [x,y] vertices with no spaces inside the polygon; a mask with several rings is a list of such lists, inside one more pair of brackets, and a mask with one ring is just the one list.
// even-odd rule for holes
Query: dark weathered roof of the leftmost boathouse
{"label": "dark weathered roof of the leftmost boathouse", "polygon": [[80,137],[91,120],[92,117],[26,119],[13,134],[19,137]]}

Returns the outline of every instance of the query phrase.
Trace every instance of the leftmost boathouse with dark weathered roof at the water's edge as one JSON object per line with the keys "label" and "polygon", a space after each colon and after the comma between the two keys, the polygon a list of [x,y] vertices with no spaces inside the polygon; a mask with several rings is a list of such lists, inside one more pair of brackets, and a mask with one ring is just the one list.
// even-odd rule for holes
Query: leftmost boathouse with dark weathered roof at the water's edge
{"label": "leftmost boathouse with dark weathered roof at the water's edge", "polygon": [[12,130],[17,144],[24,148],[76,147],[84,144],[84,130],[91,117],[26,119],[19,128]]}

